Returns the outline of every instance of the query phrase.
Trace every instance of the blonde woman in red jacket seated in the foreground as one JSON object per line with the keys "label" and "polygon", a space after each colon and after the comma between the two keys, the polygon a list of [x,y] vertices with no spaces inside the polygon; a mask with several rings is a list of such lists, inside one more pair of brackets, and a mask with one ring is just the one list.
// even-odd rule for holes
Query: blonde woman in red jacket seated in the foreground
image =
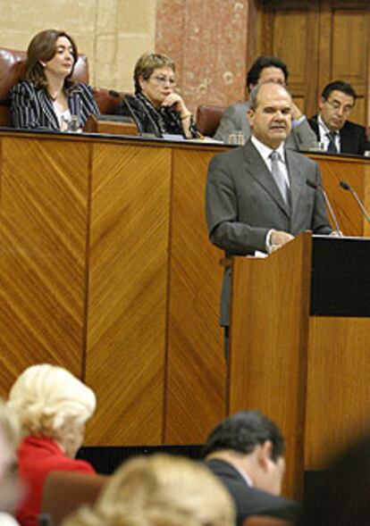
{"label": "blonde woman in red jacket seated in the foreground", "polygon": [[74,456],[82,444],[85,424],[95,411],[96,397],[71,372],[44,363],[21,373],[8,405],[26,435],[18,449],[26,496],[16,515],[22,525],[35,526],[50,472],[95,473],[89,463],[74,460]]}

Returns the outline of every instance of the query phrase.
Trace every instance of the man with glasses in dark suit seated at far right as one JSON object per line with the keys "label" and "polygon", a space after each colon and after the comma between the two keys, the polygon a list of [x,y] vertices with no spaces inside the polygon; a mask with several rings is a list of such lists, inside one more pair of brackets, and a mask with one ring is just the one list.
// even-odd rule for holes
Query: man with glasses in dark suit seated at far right
{"label": "man with glasses in dark suit seated at far right", "polygon": [[366,128],[348,121],[355,101],[356,92],[347,82],[334,80],[325,86],[318,103],[320,113],[308,122],[327,152],[363,155],[370,150]]}

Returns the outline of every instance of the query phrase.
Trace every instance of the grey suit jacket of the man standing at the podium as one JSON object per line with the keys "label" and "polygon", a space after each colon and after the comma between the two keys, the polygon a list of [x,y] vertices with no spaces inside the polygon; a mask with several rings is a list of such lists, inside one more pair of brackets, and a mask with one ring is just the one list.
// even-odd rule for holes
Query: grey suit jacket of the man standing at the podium
{"label": "grey suit jacket of the man standing at the podium", "polygon": [[[307,180],[321,185],[317,164],[287,149],[290,208],[285,205],[271,172],[251,140],[245,146],[215,155],[208,167],[206,221],[209,238],[226,255],[265,252],[271,229],[296,236],[305,230],[332,231],[322,193]],[[221,300],[221,324],[229,325],[231,270],[226,269]]]}

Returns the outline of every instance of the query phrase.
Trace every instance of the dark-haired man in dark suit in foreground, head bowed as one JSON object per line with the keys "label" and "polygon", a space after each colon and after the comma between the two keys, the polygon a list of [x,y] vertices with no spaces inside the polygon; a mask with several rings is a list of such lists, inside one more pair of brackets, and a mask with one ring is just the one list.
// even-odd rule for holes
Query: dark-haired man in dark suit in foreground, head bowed
{"label": "dark-haired man in dark suit in foreground, head bowed", "polygon": [[230,491],[238,524],[248,515],[296,518],[298,503],[280,497],[284,450],[281,431],[257,411],[226,418],[206,439],[206,465]]}

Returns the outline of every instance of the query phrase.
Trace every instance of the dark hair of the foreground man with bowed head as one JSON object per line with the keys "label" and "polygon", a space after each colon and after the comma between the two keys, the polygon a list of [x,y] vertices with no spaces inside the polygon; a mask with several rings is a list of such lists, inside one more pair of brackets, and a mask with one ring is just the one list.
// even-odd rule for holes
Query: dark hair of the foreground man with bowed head
{"label": "dark hair of the foreground man with bowed head", "polygon": [[273,443],[272,460],[284,454],[285,440],[277,425],[259,411],[240,411],[229,416],[206,439],[204,455],[232,449],[243,454],[251,453],[266,440]]}

